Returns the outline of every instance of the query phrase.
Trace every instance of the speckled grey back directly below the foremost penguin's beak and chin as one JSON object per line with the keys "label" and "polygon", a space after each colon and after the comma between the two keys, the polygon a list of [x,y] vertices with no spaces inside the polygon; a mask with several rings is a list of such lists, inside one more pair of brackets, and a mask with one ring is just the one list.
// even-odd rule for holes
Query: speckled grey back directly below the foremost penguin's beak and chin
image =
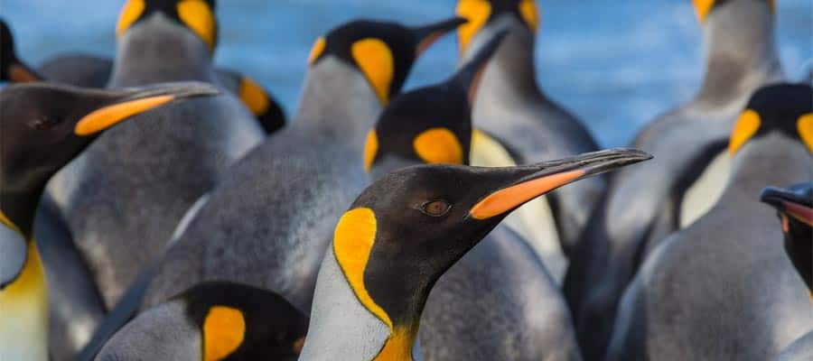
{"label": "speckled grey back directly below the foremost penguin's beak and chin", "polygon": [[441,276],[421,319],[426,360],[582,359],[556,283],[504,226]]}

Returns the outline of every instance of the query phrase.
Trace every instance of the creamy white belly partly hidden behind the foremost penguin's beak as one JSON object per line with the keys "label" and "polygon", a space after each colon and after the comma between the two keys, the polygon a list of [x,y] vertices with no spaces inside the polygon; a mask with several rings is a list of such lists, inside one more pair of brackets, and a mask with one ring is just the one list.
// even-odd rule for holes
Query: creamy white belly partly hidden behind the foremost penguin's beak
{"label": "creamy white belly partly hidden behind the foremost penguin's beak", "polygon": [[[472,165],[505,167],[517,165],[508,151],[486,134],[474,131],[472,135]],[[525,238],[545,264],[548,273],[561,285],[567,270],[567,257],[559,242],[553,211],[542,196],[531,200],[505,219],[505,224]]]}

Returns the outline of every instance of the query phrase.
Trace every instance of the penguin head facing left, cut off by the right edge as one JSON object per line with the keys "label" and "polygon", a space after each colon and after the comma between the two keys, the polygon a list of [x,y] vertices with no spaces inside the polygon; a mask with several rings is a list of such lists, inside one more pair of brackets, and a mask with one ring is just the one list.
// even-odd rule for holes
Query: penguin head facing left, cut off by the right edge
{"label": "penguin head facing left, cut off by the right edge", "polygon": [[762,201],[776,208],[785,236],[785,251],[813,295],[813,182],[788,189],[768,187]]}

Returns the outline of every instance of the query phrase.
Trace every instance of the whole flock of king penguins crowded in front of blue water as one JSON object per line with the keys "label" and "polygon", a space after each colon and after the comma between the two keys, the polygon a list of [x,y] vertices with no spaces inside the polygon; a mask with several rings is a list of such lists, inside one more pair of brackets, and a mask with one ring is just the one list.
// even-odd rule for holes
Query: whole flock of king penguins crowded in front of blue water
{"label": "whole flock of king penguins crowded in front of blue water", "polygon": [[537,84],[536,0],[333,24],[290,120],[214,63],[215,0],[122,2],[109,59],[0,19],[0,361],[813,359],[774,0],[693,0],[696,97],[605,150]]}

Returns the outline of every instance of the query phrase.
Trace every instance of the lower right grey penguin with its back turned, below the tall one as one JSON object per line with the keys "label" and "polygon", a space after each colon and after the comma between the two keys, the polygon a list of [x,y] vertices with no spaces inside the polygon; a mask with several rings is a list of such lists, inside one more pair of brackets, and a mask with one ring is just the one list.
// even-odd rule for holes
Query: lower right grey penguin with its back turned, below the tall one
{"label": "lower right grey penguin with its back turned, below the tall one", "polygon": [[758,196],[765,184],[810,179],[811,116],[809,85],[754,93],[731,132],[723,195],[641,265],[606,360],[768,360],[813,329],[808,294]]}

